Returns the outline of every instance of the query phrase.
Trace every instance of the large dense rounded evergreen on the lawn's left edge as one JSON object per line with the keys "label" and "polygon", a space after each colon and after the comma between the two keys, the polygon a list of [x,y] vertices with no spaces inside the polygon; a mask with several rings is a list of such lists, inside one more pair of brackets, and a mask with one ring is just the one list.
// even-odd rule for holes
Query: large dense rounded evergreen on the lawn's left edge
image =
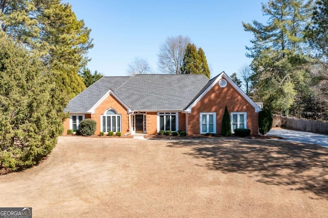
{"label": "large dense rounded evergreen on the lawn's left edge", "polygon": [[39,58],[0,36],[0,166],[38,163],[63,132],[67,99],[48,75]]}

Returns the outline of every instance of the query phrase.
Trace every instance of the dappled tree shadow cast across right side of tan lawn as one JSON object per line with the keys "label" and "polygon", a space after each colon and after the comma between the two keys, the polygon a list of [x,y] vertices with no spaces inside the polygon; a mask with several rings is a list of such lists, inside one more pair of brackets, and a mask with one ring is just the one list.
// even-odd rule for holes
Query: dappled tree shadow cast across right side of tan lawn
{"label": "dappled tree shadow cast across right side of tan lawn", "polygon": [[172,141],[185,153],[204,159],[204,167],[245,173],[257,182],[289,186],[328,199],[328,148],[268,140]]}

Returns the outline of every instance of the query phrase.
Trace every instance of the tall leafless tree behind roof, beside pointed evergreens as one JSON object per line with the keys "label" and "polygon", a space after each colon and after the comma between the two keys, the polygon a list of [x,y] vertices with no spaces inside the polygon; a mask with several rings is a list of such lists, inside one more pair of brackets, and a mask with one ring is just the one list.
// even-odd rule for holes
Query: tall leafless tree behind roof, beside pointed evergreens
{"label": "tall leafless tree behind roof, beside pointed evergreens", "polygon": [[158,67],[163,73],[179,74],[182,66],[183,56],[188,43],[188,36],[168,37],[159,48]]}

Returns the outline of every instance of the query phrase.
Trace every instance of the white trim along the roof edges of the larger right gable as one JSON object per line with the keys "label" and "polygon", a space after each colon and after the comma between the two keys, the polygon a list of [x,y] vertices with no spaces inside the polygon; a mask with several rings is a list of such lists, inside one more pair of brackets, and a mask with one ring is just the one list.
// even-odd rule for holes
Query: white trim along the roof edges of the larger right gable
{"label": "white trim along the roof edges of the larger right gable", "polygon": [[[224,79],[226,79],[237,91],[238,91],[238,93],[242,96],[242,97],[244,97],[254,108],[255,108],[255,113],[258,113],[258,112],[260,112],[260,111],[262,111],[261,110],[261,108],[248,96],[248,95],[246,95],[246,93],[244,93],[237,85],[236,85],[236,83],[234,83],[234,81],[226,74],[226,73],[224,73],[224,71],[220,74],[220,75],[218,75],[217,76],[217,78],[214,80],[214,81],[212,81],[212,83],[211,83],[211,85],[204,91],[204,92],[202,92],[197,98],[196,98],[196,100],[194,100],[187,108],[186,108],[186,112],[188,112],[188,113],[191,113],[191,108],[193,107],[193,106],[195,106],[197,103],[198,103],[198,101],[200,101],[200,99],[202,99],[203,97],[204,97],[204,95],[206,95],[212,88],[213,88],[213,86],[214,85],[216,85],[216,84],[218,84],[218,81],[220,80],[220,79],[222,79],[222,78],[224,78]],[[222,88],[222,89],[224,89],[224,88]]]}

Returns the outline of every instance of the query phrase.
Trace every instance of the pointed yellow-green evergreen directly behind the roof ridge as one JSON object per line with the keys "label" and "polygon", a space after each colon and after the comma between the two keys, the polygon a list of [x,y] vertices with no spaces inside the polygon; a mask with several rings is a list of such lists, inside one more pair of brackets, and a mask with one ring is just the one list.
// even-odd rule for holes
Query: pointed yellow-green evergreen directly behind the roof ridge
{"label": "pointed yellow-green evergreen directly behind the roof ridge", "polygon": [[207,64],[204,51],[197,48],[194,44],[187,45],[185,56],[181,66],[181,73],[183,74],[204,74],[210,78],[210,70]]}

